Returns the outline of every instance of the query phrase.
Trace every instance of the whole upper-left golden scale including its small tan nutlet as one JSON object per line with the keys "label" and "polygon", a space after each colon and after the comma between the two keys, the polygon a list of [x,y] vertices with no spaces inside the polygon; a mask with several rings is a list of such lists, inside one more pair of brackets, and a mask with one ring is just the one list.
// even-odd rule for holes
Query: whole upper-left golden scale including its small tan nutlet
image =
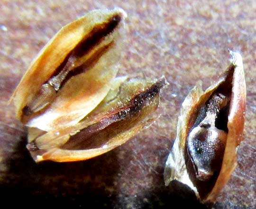
{"label": "whole upper-left golden scale including its small tan nutlet", "polygon": [[17,118],[49,131],[90,113],[116,76],[125,17],[122,9],[93,10],[64,26],[38,54],[15,90],[12,100]]}

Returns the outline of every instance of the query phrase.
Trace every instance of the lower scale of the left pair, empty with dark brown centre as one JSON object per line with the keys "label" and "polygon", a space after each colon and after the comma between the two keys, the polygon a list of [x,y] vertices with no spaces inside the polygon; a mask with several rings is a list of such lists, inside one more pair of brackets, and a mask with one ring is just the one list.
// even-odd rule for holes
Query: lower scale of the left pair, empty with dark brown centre
{"label": "lower scale of the left pair, empty with dark brown centre", "polygon": [[[31,151],[31,155],[39,161],[38,155],[55,161],[74,161],[73,158],[65,156],[51,156],[55,148],[62,152],[71,151],[75,156],[77,151],[91,152],[93,149],[99,149],[102,154],[106,149],[121,145],[136,134],[136,131],[132,130],[142,129],[154,121],[150,114],[158,107],[160,89],[166,85],[165,78],[155,82],[138,78],[124,81],[120,85],[122,90],[117,91],[114,99],[111,96],[110,99],[105,99],[77,125],[67,127],[63,131],[58,130],[58,136],[53,130],[52,133],[48,132],[33,139],[30,143],[36,144],[38,150]],[[56,145],[57,141],[59,145]]]}

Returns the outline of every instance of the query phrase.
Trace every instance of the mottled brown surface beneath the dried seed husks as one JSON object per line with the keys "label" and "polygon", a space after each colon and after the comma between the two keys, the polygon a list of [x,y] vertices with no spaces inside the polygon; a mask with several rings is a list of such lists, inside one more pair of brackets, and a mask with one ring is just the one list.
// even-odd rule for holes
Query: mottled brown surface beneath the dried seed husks
{"label": "mottled brown surface beneath the dried seed husks", "polygon": [[[121,7],[128,13],[127,43],[119,75],[165,75],[162,116],[123,146],[75,163],[35,164],[26,129],[9,97],[30,61],[65,24],[91,9]],[[2,0],[0,6],[1,203],[30,206],[138,209],[197,204],[165,188],[165,160],[176,135],[180,106],[198,80],[208,87],[228,66],[228,49],[242,53],[247,82],[244,141],[238,167],[215,209],[256,208],[256,4],[253,0]],[[9,200],[11,198],[11,200]],[[90,208],[90,207],[89,207]]]}

